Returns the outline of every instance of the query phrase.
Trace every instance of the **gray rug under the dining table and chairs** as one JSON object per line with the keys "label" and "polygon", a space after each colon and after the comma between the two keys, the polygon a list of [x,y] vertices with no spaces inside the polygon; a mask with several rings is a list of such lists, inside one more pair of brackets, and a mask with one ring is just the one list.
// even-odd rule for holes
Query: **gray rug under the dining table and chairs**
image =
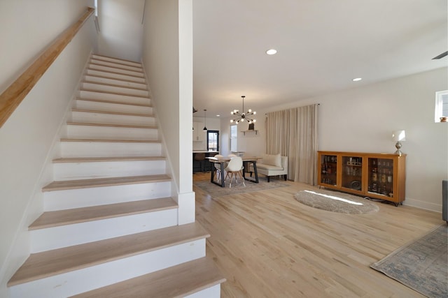
{"label": "gray rug under the dining table and chairs", "polygon": [[238,179],[238,183],[235,183],[235,179],[232,181],[232,188],[229,188],[229,180],[225,180],[225,187],[218,186],[207,181],[197,181],[193,184],[209,193],[212,197],[221,197],[223,195],[235,195],[237,193],[250,193],[252,191],[264,191],[266,189],[278,188],[288,186],[286,183],[282,183],[280,181],[276,181],[275,179],[271,179],[270,182],[265,181],[265,179],[259,179],[259,183],[253,183],[251,181],[244,181],[244,184],[241,183],[241,179]]}

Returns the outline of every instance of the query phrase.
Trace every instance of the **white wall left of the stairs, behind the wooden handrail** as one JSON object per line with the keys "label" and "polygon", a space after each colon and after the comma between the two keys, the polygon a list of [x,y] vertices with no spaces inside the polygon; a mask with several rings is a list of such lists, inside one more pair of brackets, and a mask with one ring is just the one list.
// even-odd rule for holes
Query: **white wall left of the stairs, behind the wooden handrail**
{"label": "white wall left of the stairs, behind the wooden handrail", "polygon": [[[0,1],[0,92],[87,6],[93,1]],[[43,169],[92,50],[92,38],[90,18],[0,128],[0,297],[7,297],[6,282],[29,255],[27,226],[41,213],[41,187],[51,179]]]}

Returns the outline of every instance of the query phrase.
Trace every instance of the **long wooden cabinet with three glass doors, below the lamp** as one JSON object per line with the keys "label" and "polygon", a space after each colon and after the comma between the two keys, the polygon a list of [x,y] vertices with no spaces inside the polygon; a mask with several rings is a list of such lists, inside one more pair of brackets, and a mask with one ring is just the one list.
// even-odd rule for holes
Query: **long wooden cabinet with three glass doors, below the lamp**
{"label": "long wooden cabinet with three glass doors, below the lamp", "polygon": [[[406,154],[318,151],[318,163],[319,186],[386,200],[395,206],[405,200]],[[328,166],[335,170],[328,173]]]}

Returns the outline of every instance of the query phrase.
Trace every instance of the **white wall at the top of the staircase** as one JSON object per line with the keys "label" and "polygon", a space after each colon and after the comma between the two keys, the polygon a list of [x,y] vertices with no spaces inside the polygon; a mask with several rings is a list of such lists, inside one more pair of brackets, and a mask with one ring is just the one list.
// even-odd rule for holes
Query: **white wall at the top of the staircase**
{"label": "white wall at the top of the staircase", "polygon": [[141,61],[145,0],[98,0],[98,52]]}

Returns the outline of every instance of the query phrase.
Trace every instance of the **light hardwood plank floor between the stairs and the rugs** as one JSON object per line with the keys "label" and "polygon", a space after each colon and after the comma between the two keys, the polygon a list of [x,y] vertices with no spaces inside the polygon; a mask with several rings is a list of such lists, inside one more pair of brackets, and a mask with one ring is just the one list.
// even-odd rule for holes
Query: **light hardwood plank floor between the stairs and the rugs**
{"label": "light hardwood plank floor between the stairs and the rugs", "polygon": [[423,297],[369,266],[444,223],[441,214],[379,202],[374,214],[337,214],[294,200],[312,186],[286,183],[218,198],[193,186],[207,256],[227,278],[221,297]]}

